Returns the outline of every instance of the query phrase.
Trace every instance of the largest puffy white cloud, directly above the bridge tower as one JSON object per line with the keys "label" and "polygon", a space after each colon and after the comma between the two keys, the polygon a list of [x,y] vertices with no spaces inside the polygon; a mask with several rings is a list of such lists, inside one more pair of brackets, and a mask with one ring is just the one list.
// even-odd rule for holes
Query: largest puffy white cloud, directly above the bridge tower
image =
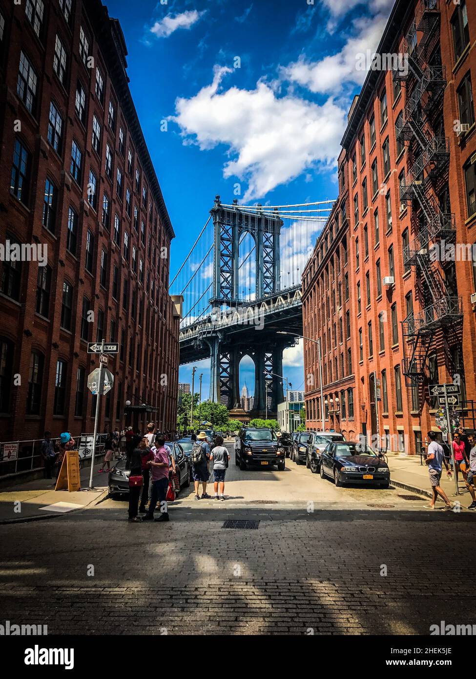
{"label": "largest puffy white cloud, directly above the bridge tower", "polygon": [[255,90],[222,91],[221,81],[229,73],[228,67],[215,67],[212,84],[189,99],[177,99],[172,120],[185,143],[193,139],[200,149],[228,147],[233,160],[223,166],[223,177],[248,181],[245,202],[304,170],[333,168],[346,120],[346,111],[333,98],[323,105],[291,94],[278,98],[263,81]]}

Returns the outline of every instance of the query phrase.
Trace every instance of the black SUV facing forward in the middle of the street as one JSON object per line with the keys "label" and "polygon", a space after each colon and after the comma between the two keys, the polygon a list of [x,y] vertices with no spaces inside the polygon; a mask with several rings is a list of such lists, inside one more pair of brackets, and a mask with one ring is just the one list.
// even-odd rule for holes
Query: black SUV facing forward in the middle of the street
{"label": "black SUV facing forward in the middle of the street", "polygon": [[283,471],[286,468],[285,449],[274,431],[246,426],[240,429],[235,440],[235,464],[239,464],[242,471],[251,464],[276,464]]}

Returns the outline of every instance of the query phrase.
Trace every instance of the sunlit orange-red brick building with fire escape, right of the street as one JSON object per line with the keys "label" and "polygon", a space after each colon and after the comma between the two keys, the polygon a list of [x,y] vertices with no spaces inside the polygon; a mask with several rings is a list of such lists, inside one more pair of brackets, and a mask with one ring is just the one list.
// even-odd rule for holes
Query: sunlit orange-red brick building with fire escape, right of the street
{"label": "sunlit orange-red brick building with fire escape, right of the street", "polygon": [[[474,426],[475,47],[475,3],[397,0],[377,53],[402,54],[408,68],[395,59],[371,69],[355,98],[339,200],[303,274],[326,428],[390,435],[394,451],[419,452],[435,428],[428,384],[460,381]],[[334,310],[342,276],[348,293]],[[304,360],[308,426],[321,428],[315,344],[305,342]]]}

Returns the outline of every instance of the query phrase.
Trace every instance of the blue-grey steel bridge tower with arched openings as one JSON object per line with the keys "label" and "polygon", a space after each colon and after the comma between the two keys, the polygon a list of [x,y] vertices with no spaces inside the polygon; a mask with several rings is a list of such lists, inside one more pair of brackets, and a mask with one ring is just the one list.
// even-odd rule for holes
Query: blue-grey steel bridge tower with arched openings
{"label": "blue-grey steel bridge tower with arched openings", "polygon": [[[210,210],[215,230],[213,297],[210,299],[213,314],[239,309],[244,304],[239,291],[240,240],[244,234],[250,234],[255,241],[256,301],[266,299],[280,289],[280,230],[283,222],[277,210],[274,215],[269,215],[264,214],[260,207],[246,211],[238,208],[237,200],[232,206],[224,206],[220,196],[215,197],[215,204]],[[246,300],[246,303],[250,301]],[[217,333],[205,341],[210,348],[210,400],[223,400],[230,409],[240,406],[240,361],[248,355],[255,363],[252,416],[264,416],[268,377],[272,379],[268,410],[270,415],[276,414],[278,403],[284,397],[282,382],[272,378],[272,373],[282,375],[282,351],[289,342],[280,341],[276,333],[270,336],[266,331],[253,327],[246,333],[246,340],[230,342],[228,335],[225,338]]]}

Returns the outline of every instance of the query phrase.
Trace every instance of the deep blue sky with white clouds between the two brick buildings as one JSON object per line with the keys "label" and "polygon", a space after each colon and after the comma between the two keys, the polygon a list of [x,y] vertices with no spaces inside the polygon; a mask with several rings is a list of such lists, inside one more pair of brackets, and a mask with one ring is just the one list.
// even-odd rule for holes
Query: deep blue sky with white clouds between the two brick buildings
{"label": "deep blue sky with white clouds between the two brick buildings", "polygon": [[[162,4],[164,3],[164,4]],[[177,238],[179,268],[213,206],[325,200],[347,112],[393,0],[109,0],[128,45],[128,75]],[[166,121],[166,130],[164,128]],[[203,393],[208,365],[202,363]],[[191,367],[180,371],[189,382]],[[300,347],[285,375],[303,388]],[[253,389],[242,363],[240,384]]]}

